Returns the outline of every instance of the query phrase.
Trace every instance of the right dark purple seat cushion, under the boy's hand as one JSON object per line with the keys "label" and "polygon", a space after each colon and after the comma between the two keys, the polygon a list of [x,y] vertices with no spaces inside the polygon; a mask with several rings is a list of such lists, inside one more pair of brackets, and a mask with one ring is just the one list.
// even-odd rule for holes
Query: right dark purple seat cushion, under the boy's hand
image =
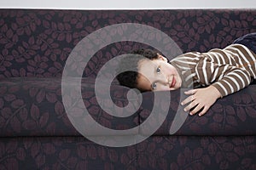
{"label": "right dark purple seat cushion, under the boy's hand", "polygon": [[[144,94],[145,95],[145,94]],[[150,92],[147,94],[149,99],[143,100],[143,112],[140,114],[140,123],[147,120],[151,114],[152,105],[154,101],[150,98],[154,98]],[[170,127],[174,116],[183,114],[189,114],[183,112],[183,106],[180,102],[180,94],[178,92],[171,93],[171,105],[166,121],[158,129],[155,135],[169,135]],[[256,86],[250,85],[249,87],[231,94],[223,99],[218,99],[217,102],[212,105],[207,114],[204,116],[189,116],[183,123],[183,126],[177,131],[178,135],[255,135],[256,126]],[[163,102],[161,105],[168,105]],[[178,110],[180,105],[181,110]],[[157,119],[155,120],[157,122]]]}

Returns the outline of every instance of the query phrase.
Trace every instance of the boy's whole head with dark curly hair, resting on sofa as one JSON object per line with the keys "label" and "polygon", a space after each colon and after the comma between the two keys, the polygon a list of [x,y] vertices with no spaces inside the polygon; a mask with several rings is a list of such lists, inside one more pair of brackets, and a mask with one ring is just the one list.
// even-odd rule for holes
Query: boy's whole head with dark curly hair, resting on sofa
{"label": "boy's whole head with dark curly hair, resting on sofa", "polygon": [[120,62],[121,70],[124,72],[117,76],[120,85],[142,92],[175,90],[182,84],[176,68],[169,64],[169,60],[150,49],[139,49],[128,54]]}

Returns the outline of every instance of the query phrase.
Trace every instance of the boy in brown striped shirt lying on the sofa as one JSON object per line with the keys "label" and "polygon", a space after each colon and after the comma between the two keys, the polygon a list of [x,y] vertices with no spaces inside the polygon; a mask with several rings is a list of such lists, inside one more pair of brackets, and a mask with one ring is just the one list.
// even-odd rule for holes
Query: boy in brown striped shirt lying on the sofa
{"label": "boy in brown striped shirt lying on the sofa", "polygon": [[[185,92],[189,97],[181,105],[187,105],[184,111],[190,115],[202,116],[217,99],[246,88],[256,79],[256,33],[240,37],[224,49],[182,54],[171,61],[149,49],[134,51],[128,58],[128,67],[136,66],[140,73],[120,73],[117,79],[121,85],[141,91],[194,87]],[[119,68],[127,67],[126,63]]]}

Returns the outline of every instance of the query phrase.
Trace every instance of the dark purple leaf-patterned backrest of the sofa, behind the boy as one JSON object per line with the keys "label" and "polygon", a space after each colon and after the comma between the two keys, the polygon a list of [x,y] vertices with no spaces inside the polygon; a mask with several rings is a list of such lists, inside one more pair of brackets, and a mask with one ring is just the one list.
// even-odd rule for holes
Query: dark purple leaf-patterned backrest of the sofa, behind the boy
{"label": "dark purple leaf-patterned backrest of the sofa, behind the boy", "polygon": [[[184,53],[224,48],[236,38],[256,31],[255,13],[253,9],[2,9],[0,78],[61,77],[68,55],[80,40],[104,26],[118,23],[154,26],[172,37]],[[124,31],[119,28],[116,34]],[[117,42],[102,48],[85,68],[84,77],[96,77],[108,59],[141,46],[136,42]]]}

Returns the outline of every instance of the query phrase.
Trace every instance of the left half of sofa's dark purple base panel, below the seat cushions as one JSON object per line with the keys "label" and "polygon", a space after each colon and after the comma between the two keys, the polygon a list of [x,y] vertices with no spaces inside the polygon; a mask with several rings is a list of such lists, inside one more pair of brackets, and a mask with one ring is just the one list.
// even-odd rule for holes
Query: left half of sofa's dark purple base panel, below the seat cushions
{"label": "left half of sofa's dark purple base panel, below the seat cushions", "polygon": [[3,138],[0,169],[136,169],[136,146],[109,148],[83,137]]}

